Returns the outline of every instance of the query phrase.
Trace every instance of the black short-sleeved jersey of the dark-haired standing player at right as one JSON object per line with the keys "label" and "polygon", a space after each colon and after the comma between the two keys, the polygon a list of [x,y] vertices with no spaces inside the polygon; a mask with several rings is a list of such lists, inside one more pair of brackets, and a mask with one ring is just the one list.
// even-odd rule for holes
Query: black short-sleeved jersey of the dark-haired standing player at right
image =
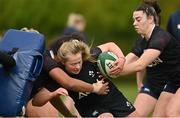
{"label": "black short-sleeved jersey of the dark-haired standing player at right", "polygon": [[[172,78],[180,72],[180,44],[168,32],[156,26],[150,39],[138,39],[132,53],[141,56],[146,49],[156,49],[161,52],[159,57],[147,67],[150,78]],[[164,76],[164,77],[163,77]]]}

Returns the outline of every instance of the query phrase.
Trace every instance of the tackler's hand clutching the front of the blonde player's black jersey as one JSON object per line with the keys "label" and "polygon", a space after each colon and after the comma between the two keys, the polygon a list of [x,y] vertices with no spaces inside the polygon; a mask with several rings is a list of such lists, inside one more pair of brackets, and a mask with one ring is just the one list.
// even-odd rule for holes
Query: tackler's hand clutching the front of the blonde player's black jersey
{"label": "tackler's hand clutching the front of the blonde player's black jersey", "polygon": [[104,80],[97,81],[93,84],[93,92],[99,95],[106,95],[109,92],[108,82],[104,83]]}

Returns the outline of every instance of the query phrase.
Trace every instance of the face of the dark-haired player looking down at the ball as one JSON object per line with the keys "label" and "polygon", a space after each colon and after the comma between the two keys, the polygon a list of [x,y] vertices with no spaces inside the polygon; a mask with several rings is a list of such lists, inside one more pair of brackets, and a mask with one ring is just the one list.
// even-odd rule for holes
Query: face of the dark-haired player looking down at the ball
{"label": "face of the dark-haired player looking down at the ball", "polygon": [[143,11],[134,11],[133,20],[133,26],[136,32],[140,35],[145,35],[146,30],[148,29],[147,15]]}

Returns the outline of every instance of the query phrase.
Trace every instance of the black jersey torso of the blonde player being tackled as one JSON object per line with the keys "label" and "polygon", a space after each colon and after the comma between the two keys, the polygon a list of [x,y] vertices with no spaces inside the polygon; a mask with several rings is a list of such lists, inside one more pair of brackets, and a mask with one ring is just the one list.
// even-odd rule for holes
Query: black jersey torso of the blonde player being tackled
{"label": "black jersey torso of the blonde player being tackled", "polygon": [[[79,74],[72,75],[69,74],[71,77],[82,80],[84,82],[93,84],[96,83],[97,80],[99,80],[98,74],[97,74],[97,65],[95,63],[86,61],[82,65],[82,69]],[[116,88],[116,86],[109,80],[105,79],[106,82],[109,82],[109,93],[107,95],[97,95],[95,93],[90,93],[90,92],[75,92],[68,90],[70,97],[74,100],[75,102],[75,107],[79,111],[79,113],[83,116],[84,111],[87,111],[88,109],[97,107],[97,106],[102,106],[107,109],[110,109],[114,105],[119,105],[119,104],[125,104],[126,102],[129,103],[128,101],[123,101],[124,96],[122,93]],[[122,106],[119,106],[120,108]],[[133,109],[133,107],[129,107],[129,109]],[[124,109],[125,110],[125,109]]]}

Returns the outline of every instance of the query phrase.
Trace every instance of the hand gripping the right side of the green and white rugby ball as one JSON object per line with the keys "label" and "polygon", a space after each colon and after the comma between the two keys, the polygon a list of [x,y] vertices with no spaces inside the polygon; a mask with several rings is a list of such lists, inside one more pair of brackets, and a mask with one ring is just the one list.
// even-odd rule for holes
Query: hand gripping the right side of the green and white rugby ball
{"label": "hand gripping the right side of the green and white rugby ball", "polygon": [[110,69],[109,74],[112,76],[118,76],[119,73],[123,70],[125,63],[125,58],[118,58],[114,63],[113,63],[113,68]]}

